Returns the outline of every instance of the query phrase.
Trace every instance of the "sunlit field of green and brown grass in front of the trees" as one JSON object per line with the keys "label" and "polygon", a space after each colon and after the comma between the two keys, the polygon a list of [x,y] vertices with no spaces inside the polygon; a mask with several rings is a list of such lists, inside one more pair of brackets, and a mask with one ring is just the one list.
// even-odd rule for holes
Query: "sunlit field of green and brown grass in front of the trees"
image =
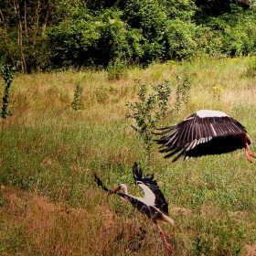
{"label": "sunlit field of green and brown grass in front of the trees", "polygon": [[[150,161],[142,139],[126,119],[138,84],[188,78],[187,105],[159,126],[199,109],[228,113],[256,140],[256,77],[251,59],[198,59],[131,69],[110,81],[104,71],[16,75],[13,115],[1,121],[1,255],[166,255],[155,225],[107,187],[126,183],[133,195],[136,161],[155,173],[176,227],[161,223],[174,255],[256,255],[256,169],[244,150],[171,163],[153,144]],[[1,93],[4,81],[1,80]],[[80,110],[71,108],[83,88]],[[2,98],[2,94],[0,95]],[[254,144],[252,151],[256,151]],[[256,163],[255,159],[254,162]]]}

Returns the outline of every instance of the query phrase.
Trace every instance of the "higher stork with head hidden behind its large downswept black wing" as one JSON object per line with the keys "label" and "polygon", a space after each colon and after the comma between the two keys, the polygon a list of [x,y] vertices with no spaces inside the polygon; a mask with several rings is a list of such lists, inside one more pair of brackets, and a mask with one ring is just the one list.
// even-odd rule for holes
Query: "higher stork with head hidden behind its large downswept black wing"
{"label": "higher stork with head hidden behind its large downswept black wing", "polygon": [[201,155],[217,155],[245,148],[247,160],[252,164],[249,144],[251,138],[245,127],[225,112],[200,110],[180,123],[161,128],[160,139],[155,140],[160,152],[168,153],[165,157],[177,155],[173,162],[185,155],[189,157]]}

